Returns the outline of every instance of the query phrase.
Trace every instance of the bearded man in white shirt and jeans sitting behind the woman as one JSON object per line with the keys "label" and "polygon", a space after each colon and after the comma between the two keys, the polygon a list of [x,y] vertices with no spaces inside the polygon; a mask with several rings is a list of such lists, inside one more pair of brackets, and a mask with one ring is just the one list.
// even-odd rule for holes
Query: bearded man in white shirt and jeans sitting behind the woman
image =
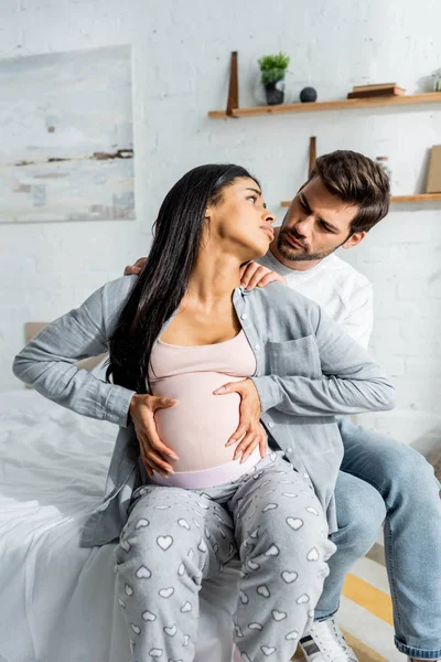
{"label": "bearded man in white shirt and jeans sitting behind the woman", "polygon": [[[389,182],[370,159],[349,151],[320,157],[276,228],[268,254],[258,260],[260,266],[251,263],[244,269],[243,286],[265,286],[275,278],[269,270],[276,271],[367,345],[372,287],[334,252],[358,245],[387,214],[388,204]],[[126,273],[139,273],[143,259],[137,265]],[[385,519],[395,643],[409,661],[440,662],[440,485],[430,465],[413,449],[346,418],[338,425],[345,455],[335,490],[338,532],[332,541],[337,552],[329,562],[315,622],[301,640],[303,654],[309,662],[356,662],[334,613],[345,575],[374,544]]]}

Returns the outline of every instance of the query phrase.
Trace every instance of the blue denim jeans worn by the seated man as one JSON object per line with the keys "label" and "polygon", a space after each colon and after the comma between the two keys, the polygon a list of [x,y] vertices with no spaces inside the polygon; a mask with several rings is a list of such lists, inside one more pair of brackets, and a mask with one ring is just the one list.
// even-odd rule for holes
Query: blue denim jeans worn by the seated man
{"label": "blue denim jeans worn by the seated man", "polygon": [[345,455],[336,485],[337,552],[315,619],[338,609],[345,575],[375,543],[385,520],[395,643],[410,658],[441,658],[440,483],[426,459],[389,437],[338,420]]}

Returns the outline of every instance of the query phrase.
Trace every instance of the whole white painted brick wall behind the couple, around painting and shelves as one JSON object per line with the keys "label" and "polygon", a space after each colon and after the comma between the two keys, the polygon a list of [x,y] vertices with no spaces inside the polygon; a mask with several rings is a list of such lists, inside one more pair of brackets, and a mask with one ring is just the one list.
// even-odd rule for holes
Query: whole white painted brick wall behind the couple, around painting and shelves
{"label": "whole white painted brick wall behind the couple, around painting and shelves", "polygon": [[[193,166],[245,164],[281,218],[279,202],[305,177],[314,135],[319,153],[389,156],[394,192],[416,192],[428,148],[441,142],[441,104],[235,120],[206,113],[225,107],[233,50],[243,106],[255,103],[257,57],[280,49],[291,55],[292,93],[313,84],[322,100],[343,98],[353,85],[389,81],[429,89],[441,66],[440,23],[438,0],[3,0],[1,57],[133,45],[138,220],[0,226],[0,388],[19,386],[10,364],[24,322],[63,313],[146,254],[160,201]],[[438,413],[441,205],[396,205],[344,257],[374,281],[373,349],[396,377],[399,405]]]}

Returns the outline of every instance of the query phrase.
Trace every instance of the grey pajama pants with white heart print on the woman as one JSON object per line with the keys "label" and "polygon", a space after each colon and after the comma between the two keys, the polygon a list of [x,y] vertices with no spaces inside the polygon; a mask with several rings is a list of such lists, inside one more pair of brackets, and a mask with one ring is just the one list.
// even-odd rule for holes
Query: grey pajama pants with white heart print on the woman
{"label": "grey pajama pants with white heart print on the woman", "polygon": [[201,584],[237,552],[241,658],[288,662],[313,621],[335,552],[310,482],[271,452],[223,485],[133,492],[115,558],[135,662],[193,661]]}

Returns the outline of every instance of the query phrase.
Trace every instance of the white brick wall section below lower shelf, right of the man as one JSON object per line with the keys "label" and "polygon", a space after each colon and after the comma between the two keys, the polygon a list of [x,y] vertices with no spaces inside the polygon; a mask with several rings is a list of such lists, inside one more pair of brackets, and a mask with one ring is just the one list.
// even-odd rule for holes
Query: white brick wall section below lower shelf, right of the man
{"label": "white brick wall section below lower shelf, right of the man", "polygon": [[440,414],[441,207],[397,207],[344,257],[374,284],[372,350],[395,378],[399,407]]}

